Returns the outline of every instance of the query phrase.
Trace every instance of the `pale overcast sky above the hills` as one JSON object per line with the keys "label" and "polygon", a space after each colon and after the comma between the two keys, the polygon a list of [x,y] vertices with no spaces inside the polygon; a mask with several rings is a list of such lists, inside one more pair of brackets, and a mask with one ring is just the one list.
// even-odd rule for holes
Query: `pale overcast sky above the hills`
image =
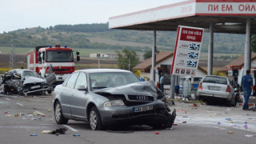
{"label": "pale overcast sky above the hills", "polygon": [[59,24],[106,23],[110,17],[186,0],[1,0],[0,34]]}

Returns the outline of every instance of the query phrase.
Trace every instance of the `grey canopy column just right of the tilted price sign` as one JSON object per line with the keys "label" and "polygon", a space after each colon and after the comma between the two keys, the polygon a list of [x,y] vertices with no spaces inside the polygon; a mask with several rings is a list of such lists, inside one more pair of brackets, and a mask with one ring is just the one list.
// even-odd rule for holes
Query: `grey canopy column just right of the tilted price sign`
{"label": "grey canopy column just right of the tilted price sign", "polygon": [[210,38],[209,38],[209,46],[208,46],[208,67],[207,74],[213,74],[213,55],[214,55],[214,22],[210,22]]}

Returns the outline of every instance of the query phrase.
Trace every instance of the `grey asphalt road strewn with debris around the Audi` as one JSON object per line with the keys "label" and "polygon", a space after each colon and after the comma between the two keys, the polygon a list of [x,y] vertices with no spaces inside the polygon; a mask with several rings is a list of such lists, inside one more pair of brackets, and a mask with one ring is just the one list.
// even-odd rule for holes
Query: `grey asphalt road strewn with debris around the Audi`
{"label": "grey asphalt road strewn with debris around the Audi", "polygon": [[[94,131],[86,122],[70,121],[58,126],[54,122],[52,96],[18,97],[0,94],[0,143],[14,144],[155,144],[155,143],[256,143],[256,112],[238,107],[193,106],[176,102],[177,110],[171,130],[154,130],[150,126],[118,127]],[[7,114],[6,114],[7,113]],[[34,115],[34,114],[38,115]],[[18,114],[18,117],[14,117]],[[244,127],[245,122],[247,129]],[[42,130],[66,127],[66,134],[42,134]],[[233,131],[233,134],[229,134]],[[37,136],[30,136],[37,134]],[[79,136],[74,136],[78,134]],[[246,136],[245,136],[246,135]],[[251,137],[250,137],[251,136]]]}

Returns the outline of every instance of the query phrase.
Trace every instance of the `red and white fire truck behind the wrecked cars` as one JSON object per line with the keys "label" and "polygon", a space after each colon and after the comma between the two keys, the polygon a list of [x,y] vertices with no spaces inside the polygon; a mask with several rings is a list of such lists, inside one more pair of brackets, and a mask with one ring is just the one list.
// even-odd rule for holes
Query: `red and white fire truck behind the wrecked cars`
{"label": "red and white fire truck behind the wrecked cars", "polygon": [[[74,72],[74,56],[68,46],[36,46],[27,54],[27,68],[41,74],[50,85],[57,85]],[[77,61],[80,60],[79,52]]]}

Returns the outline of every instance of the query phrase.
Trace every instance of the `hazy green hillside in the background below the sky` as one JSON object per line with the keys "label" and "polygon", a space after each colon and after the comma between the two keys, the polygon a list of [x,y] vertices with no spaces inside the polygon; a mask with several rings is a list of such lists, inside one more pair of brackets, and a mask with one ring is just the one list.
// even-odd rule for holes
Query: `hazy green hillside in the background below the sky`
{"label": "hazy green hillside in the background below the sky", "polygon": [[[34,47],[60,44],[79,49],[146,52],[153,46],[153,31],[110,30],[108,23],[40,26],[0,34],[0,46]],[[158,50],[174,50],[176,32],[158,31]],[[209,34],[205,33],[202,53],[207,53]],[[214,54],[243,54],[244,34],[214,34]]]}

